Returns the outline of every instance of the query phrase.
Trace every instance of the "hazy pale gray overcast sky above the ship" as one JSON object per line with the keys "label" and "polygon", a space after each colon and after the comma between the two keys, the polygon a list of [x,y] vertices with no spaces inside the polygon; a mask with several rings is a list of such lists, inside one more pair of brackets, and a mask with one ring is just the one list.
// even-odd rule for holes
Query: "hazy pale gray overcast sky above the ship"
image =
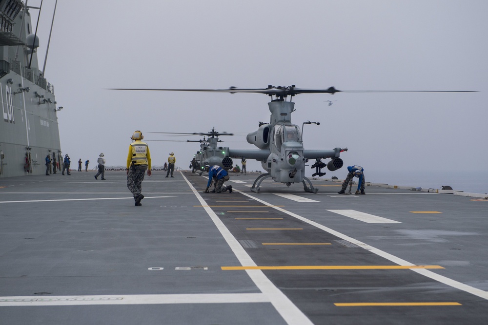
{"label": "hazy pale gray overcast sky above the ship", "polygon": [[[41,12],[41,66],[54,2],[44,0]],[[135,130],[144,140],[198,140],[149,132],[212,127],[236,134],[223,145],[255,149],[246,134],[269,122],[261,94],[105,88],[477,90],[302,94],[292,122],[319,121],[305,126],[305,149],[347,147],[345,164],[364,166],[369,181],[396,169],[479,169],[488,161],[487,12],[486,0],[59,0],[45,76],[64,108],[61,149],[91,167],[101,152],[108,165],[124,165]],[[199,148],[148,143],[153,165],[173,151],[188,167]]]}

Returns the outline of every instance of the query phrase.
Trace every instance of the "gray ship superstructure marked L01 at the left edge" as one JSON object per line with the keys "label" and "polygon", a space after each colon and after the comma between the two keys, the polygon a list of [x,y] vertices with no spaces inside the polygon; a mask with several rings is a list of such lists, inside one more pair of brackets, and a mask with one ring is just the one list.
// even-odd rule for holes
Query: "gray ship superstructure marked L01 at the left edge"
{"label": "gray ship superstructure marked L01 at the left edge", "polygon": [[29,7],[0,0],[0,177],[46,172],[62,163],[54,87],[39,67]]}

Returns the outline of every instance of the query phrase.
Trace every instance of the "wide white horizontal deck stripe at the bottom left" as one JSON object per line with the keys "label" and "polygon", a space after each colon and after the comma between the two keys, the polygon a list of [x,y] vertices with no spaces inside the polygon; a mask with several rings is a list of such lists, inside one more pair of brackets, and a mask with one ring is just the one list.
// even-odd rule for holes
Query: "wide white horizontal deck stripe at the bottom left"
{"label": "wide white horizontal deck stripe at the bottom left", "polygon": [[269,299],[263,293],[0,297],[0,307],[239,303],[269,303]]}

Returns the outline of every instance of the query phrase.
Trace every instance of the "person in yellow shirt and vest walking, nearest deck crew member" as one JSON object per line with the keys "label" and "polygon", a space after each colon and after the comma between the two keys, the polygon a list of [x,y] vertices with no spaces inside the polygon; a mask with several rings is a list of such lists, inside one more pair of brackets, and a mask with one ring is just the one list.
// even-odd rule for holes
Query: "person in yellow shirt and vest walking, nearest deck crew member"
{"label": "person in yellow shirt and vest walking, nearest deck crew member", "polygon": [[127,188],[132,192],[136,206],[142,206],[142,180],[145,171],[147,170],[147,175],[151,176],[151,154],[147,143],[141,141],[143,138],[141,131],[135,131],[131,136],[133,142],[129,145],[127,154]]}

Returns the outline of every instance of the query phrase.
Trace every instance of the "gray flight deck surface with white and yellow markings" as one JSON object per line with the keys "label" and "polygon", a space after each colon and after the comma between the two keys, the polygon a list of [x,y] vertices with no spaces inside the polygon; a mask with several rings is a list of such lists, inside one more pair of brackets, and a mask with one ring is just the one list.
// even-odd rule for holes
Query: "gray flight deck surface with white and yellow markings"
{"label": "gray flight deck surface with white and yellow markings", "polygon": [[1,325],[488,324],[487,200],[71,173],[0,180]]}

